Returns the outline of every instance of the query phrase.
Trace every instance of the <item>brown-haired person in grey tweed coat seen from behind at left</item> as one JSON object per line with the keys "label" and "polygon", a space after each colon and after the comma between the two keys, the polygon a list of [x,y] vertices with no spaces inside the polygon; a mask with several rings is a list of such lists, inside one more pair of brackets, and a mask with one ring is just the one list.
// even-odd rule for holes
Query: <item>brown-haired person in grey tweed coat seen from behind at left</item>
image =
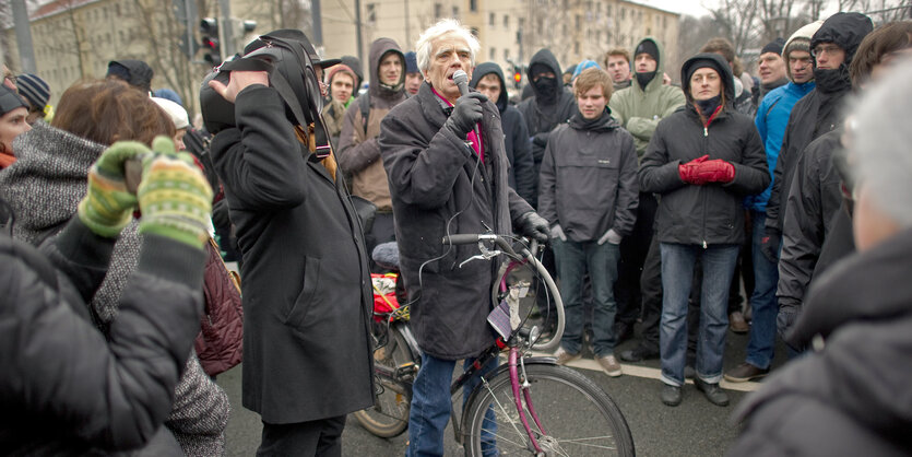
{"label": "brown-haired person in grey tweed coat seen from behind at left", "polygon": [[[32,244],[56,234],[76,212],[86,191],[92,163],[115,141],[151,144],[156,136],[174,138],[175,127],[149,96],[121,81],[81,81],[61,96],[51,125],[36,124],[16,142],[17,161],[0,173],[0,192],[16,214],[13,236]],[[107,335],[119,298],[140,253],[138,222],[121,232],[107,277],[90,314]],[[194,353],[175,389],[165,425],[189,456],[225,453],[227,395],[203,372]]]}

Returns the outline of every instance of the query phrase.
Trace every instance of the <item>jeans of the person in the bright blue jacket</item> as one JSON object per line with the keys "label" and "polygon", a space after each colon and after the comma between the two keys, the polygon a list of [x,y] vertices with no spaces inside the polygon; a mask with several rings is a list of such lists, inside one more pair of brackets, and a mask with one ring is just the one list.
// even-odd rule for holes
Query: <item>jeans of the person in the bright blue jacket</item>
{"label": "jeans of the person in the bright blue jacket", "polygon": [[754,223],[754,294],[750,295],[750,308],[754,320],[747,342],[747,363],[767,370],[772,362],[775,347],[775,315],[779,305],[775,301],[775,286],[779,283],[779,266],[771,262],[760,251],[763,237],[763,224],[767,213],[751,211]]}

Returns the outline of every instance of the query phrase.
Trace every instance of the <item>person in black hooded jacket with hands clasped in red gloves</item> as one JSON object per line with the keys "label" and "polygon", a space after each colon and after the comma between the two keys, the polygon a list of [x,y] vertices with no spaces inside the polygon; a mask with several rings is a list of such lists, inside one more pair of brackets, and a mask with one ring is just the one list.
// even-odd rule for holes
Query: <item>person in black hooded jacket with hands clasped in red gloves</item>
{"label": "person in black hooded jacket with hands clasped in red gloves", "polygon": [[680,70],[685,109],[655,129],[639,171],[640,189],[661,196],[655,216],[662,256],[660,379],[662,402],[682,401],[687,353],[687,308],[697,260],[702,263],[699,341],[694,385],[716,406],[729,329],[729,285],[744,243],[744,197],[770,183],[754,119],[738,113],[727,62],[698,54]]}

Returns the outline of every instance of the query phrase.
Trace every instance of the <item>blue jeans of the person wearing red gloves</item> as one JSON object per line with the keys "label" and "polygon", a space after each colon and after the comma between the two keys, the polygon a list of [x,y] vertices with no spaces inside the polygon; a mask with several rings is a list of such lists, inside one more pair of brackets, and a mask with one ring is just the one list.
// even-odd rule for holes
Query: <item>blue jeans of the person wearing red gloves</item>
{"label": "blue jeans of the person wearing red gloves", "polygon": [[702,259],[700,329],[697,339],[697,377],[706,383],[722,380],[722,354],[729,329],[729,289],[738,258],[738,245],[660,243],[662,251],[662,326],[659,348],[663,383],[684,385],[687,359],[687,301],[694,282],[694,265]]}

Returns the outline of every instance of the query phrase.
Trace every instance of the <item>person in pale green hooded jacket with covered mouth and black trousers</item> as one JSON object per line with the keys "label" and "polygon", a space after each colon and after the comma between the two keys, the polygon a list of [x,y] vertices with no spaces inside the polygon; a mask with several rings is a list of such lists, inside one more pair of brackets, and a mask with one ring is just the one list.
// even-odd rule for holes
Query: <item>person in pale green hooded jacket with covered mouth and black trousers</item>
{"label": "person in pale green hooded jacket with covered mouth and black trousers", "polygon": [[[662,83],[665,56],[662,45],[655,38],[643,38],[633,49],[632,82],[629,87],[612,95],[608,107],[612,116],[633,136],[637,156],[641,159],[655,132],[655,126],[684,105],[684,93],[678,87]],[[620,244],[621,263],[615,286],[615,323],[618,327],[615,335],[618,341],[632,335],[633,323],[641,314],[640,304],[643,316],[643,339],[633,349],[620,353],[620,359],[626,362],[659,356],[662,284],[658,245],[654,253],[650,249],[656,204],[651,192],[640,192],[633,231]],[[653,261],[647,260],[649,256],[652,256]],[[644,283],[641,283],[641,278]]]}

